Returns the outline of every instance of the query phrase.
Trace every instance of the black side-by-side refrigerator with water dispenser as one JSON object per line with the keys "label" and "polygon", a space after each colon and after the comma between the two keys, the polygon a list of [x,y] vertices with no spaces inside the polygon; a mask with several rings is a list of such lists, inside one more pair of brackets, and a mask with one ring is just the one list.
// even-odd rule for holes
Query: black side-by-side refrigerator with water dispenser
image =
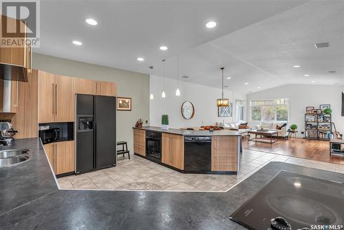
{"label": "black side-by-side refrigerator with water dispenser", "polygon": [[116,165],[116,98],[76,94],[76,173]]}

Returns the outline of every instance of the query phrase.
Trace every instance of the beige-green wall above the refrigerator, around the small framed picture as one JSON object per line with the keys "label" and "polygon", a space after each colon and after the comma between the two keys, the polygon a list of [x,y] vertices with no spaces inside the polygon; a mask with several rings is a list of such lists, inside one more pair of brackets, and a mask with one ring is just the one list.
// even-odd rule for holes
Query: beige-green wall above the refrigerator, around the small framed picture
{"label": "beige-green wall above the refrigerator, around the small framed picture", "polygon": [[139,118],[149,120],[149,75],[36,53],[32,56],[32,65],[52,74],[117,83],[117,95],[132,98],[131,111],[117,112],[117,140],[127,141],[133,152],[132,127]]}

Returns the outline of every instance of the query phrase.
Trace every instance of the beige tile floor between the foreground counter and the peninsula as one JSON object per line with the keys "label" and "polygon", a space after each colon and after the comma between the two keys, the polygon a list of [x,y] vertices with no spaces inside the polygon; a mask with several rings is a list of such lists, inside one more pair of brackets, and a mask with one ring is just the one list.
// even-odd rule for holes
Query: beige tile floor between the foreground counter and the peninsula
{"label": "beige tile floor between the foreground counter and the peninsula", "polygon": [[270,161],[281,161],[344,174],[344,165],[244,149],[238,175],[182,174],[139,156],[131,156],[131,160],[118,158],[116,167],[58,178],[58,184],[61,189],[228,191]]}

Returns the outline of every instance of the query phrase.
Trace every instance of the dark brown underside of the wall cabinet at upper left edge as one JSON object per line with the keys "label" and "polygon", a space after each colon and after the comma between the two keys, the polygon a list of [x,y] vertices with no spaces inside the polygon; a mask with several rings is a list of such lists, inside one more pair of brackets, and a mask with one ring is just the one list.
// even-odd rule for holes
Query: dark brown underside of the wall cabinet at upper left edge
{"label": "dark brown underside of the wall cabinet at upper left edge", "polygon": [[28,71],[21,65],[0,63],[0,79],[7,81],[28,82]]}

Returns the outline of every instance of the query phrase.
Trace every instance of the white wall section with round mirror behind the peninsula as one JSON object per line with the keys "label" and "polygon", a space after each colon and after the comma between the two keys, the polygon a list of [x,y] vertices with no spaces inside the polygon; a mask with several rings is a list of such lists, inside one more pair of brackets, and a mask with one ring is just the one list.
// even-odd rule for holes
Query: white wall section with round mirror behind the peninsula
{"label": "white wall section with round mirror behind the peninsula", "polygon": [[[222,90],[195,83],[180,82],[180,96],[175,96],[177,81],[165,78],[164,90],[166,98],[161,97],[162,77],[151,76],[151,88],[154,99],[149,103],[150,125],[161,125],[161,115],[169,115],[169,126],[199,127],[201,125],[215,125],[216,122],[233,121],[235,117],[235,99],[246,100],[245,94],[235,94],[229,90],[224,92],[224,97],[229,98],[233,103],[232,117],[219,118],[217,116],[216,99],[221,98]],[[233,100],[234,99],[234,100]],[[184,101],[191,101],[195,107],[195,116],[191,120],[186,120],[181,114],[181,107]]]}

